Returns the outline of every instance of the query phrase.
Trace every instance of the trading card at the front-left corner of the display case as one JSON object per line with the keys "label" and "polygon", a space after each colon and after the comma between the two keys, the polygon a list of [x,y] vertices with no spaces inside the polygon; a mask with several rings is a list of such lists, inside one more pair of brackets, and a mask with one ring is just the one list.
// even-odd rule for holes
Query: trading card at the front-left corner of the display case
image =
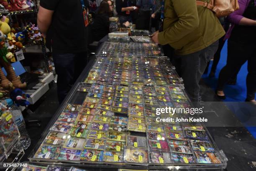
{"label": "trading card at the front-left corner of the display case", "polygon": [[57,159],[60,149],[60,146],[41,145],[36,151],[34,158]]}

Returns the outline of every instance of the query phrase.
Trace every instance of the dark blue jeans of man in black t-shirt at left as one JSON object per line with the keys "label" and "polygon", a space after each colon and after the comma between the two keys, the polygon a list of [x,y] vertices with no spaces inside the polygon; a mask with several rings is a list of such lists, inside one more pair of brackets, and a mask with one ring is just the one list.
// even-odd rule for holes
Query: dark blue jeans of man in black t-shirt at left
{"label": "dark blue jeans of man in black t-shirt at left", "polygon": [[56,74],[58,75],[58,99],[64,100],[67,93],[87,64],[87,52],[76,54],[53,53]]}

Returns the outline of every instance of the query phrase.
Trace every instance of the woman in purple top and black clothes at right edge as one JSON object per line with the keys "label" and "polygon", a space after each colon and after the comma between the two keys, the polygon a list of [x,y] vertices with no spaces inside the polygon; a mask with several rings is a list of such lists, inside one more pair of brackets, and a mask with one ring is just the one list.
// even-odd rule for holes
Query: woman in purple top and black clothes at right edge
{"label": "woman in purple top and black clothes at right edge", "polygon": [[223,92],[228,79],[248,61],[247,102],[255,101],[256,93],[256,0],[238,0],[240,9],[228,16],[232,23],[225,39],[228,39],[228,59],[220,71],[216,94],[225,99]]}

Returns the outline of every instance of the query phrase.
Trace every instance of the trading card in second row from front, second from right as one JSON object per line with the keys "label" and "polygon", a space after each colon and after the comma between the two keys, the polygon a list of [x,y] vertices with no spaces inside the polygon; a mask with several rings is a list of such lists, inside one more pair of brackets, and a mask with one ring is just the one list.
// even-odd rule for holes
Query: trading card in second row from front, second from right
{"label": "trading card in second row from front, second from right", "polygon": [[192,154],[188,141],[168,140],[172,152]]}

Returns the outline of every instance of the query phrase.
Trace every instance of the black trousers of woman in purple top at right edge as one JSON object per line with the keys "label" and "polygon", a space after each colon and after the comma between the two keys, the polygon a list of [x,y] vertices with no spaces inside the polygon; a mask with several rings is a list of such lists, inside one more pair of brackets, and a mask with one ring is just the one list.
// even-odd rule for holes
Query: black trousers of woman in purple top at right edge
{"label": "black trousers of woman in purple top at right edge", "polygon": [[217,90],[223,91],[228,79],[233,77],[248,61],[246,78],[247,100],[254,100],[256,93],[256,43],[239,43],[228,40],[228,59],[220,71]]}

